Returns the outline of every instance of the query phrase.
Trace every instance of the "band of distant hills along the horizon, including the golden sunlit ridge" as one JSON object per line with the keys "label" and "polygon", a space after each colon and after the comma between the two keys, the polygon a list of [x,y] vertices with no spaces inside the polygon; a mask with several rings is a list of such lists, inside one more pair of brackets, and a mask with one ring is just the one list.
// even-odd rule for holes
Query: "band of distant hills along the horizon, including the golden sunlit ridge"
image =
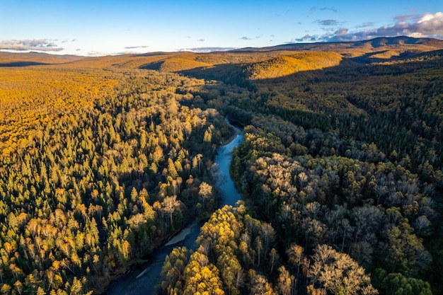
{"label": "band of distant hills along the horizon, including the golden sunlit ridge", "polygon": [[[46,53],[0,52],[0,66],[61,65],[69,68],[154,69],[198,74],[197,71],[239,67],[250,79],[269,79],[297,71],[339,64],[369,64],[413,59],[418,54],[443,50],[443,40],[413,37],[378,37],[355,42],[291,43],[273,47],[242,48],[229,52],[150,52],[105,57],[78,57]],[[321,52],[321,53],[320,53]],[[187,72],[188,71],[188,72]],[[209,71],[208,71],[209,72]]]}

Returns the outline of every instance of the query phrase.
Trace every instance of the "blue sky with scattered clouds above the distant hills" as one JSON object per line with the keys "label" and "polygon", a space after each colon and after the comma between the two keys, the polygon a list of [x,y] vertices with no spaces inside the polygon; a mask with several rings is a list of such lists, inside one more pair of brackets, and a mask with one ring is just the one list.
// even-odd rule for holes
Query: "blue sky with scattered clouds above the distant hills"
{"label": "blue sky with scattered clouds above the distant hills", "polygon": [[102,56],[443,39],[443,0],[0,0],[0,51]]}

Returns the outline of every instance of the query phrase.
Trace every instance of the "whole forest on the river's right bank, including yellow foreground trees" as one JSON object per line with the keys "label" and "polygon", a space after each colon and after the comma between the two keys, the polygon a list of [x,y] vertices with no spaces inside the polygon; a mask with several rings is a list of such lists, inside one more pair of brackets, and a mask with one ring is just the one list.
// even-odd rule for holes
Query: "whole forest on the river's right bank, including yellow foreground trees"
{"label": "whole forest on the river's right bank, including yellow foreground trees", "polygon": [[[188,267],[198,257],[195,267],[211,272],[196,277],[185,267],[163,292],[202,291],[214,279],[225,294],[440,294],[441,54],[300,66],[273,79],[262,70],[284,63],[294,69],[290,56],[245,64],[237,79],[249,91],[213,88],[208,100],[245,126],[231,174],[241,210],[267,229],[259,222],[243,232],[251,221],[234,213],[240,225],[227,221],[227,249],[226,228],[202,230]],[[205,72],[212,76],[190,74]],[[224,264],[226,253],[234,265]],[[178,272],[171,265],[166,279]]]}

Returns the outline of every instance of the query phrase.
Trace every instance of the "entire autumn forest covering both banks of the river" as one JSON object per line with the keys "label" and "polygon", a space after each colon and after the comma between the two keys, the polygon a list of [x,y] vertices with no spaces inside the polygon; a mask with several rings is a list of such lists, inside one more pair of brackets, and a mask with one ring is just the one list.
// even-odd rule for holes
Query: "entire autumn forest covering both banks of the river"
{"label": "entire autumn forest covering both banks of the river", "polygon": [[[442,294],[442,64],[286,48],[1,67],[1,293],[103,294],[207,219],[158,294]],[[243,200],[217,209],[226,116]]]}

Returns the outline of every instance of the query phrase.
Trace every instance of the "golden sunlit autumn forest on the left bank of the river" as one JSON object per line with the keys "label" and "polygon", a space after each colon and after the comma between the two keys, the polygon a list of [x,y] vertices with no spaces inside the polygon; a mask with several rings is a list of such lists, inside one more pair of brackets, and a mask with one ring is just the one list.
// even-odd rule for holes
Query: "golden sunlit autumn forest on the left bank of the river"
{"label": "golden sunlit autumn forest on the left bank of the river", "polygon": [[217,207],[210,159],[230,132],[217,110],[192,105],[188,89],[205,81],[146,70],[1,75],[2,293],[99,294]]}

